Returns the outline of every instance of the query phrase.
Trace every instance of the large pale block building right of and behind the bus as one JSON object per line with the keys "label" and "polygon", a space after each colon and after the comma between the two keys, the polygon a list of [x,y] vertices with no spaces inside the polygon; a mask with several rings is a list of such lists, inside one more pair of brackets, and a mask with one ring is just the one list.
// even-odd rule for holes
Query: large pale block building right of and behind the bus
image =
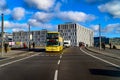
{"label": "large pale block building right of and behind the bus", "polygon": [[93,46],[93,31],[77,23],[60,24],[58,32],[61,33],[64,40],[70,40],[72,46],[79,46],[79,42]]}

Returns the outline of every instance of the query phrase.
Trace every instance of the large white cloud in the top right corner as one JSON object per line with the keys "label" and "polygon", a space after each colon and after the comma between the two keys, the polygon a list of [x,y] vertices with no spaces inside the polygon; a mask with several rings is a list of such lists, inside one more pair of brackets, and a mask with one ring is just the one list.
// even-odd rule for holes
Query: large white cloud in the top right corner
{"label": "large white cloud in the top right corner", "polygon": [[115,0],[103,5],[98,6],[101,12],[107,12],[114,18],[120,18],[120,1]]}

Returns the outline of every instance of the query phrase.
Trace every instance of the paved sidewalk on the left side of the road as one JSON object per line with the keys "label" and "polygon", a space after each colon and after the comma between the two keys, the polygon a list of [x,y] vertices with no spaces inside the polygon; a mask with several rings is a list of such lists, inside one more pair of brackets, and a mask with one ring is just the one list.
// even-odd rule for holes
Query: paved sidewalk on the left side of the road
{"label": "paved sidewalk on the left side of the road", "polygon": [[10,50],[7,53],[3,52],[2,55],[1,55],[1,52],[0,52],[0,57],[1,58],[3,58],[3,57],[4,58],[14,57],[14,56],[18,56],[18,55],[24,54],[26,52],[28,52],[28,49]]}

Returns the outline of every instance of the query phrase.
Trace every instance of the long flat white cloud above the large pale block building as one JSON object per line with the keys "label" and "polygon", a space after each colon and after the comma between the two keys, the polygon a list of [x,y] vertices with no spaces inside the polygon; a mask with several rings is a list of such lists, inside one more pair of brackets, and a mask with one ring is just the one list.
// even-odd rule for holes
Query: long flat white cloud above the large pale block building
{"label": "long flat white cloud above the large pale block building", "polygon": [[95,19],[94,15],[85,14],[83,12],[77,12],[77,11],[59,12],[57,13],[57,17],[63,20],[73,21],[73,22],[86,22]]}

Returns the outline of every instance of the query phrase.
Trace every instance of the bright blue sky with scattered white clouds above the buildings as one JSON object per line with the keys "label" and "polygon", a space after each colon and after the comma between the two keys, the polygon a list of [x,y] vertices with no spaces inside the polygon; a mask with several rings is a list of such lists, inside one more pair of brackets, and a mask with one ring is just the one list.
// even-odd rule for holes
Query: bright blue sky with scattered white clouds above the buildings
{"label": "bright blue sky with scattered white clouds above the buildings", "polygon": [[[120,37],[120,0],[0,0],[4,31],[57,30],[58,24],[75,22],[98,36]],[[1,20],[0,20],[1,25]],[[0,26],[1,27],[1,26]]]}

